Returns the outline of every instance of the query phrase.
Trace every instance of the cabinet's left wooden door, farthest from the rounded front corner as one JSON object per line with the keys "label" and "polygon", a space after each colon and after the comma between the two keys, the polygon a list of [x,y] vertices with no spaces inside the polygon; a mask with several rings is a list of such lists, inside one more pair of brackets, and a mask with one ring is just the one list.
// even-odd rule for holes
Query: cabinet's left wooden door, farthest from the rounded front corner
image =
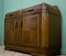
{"label": "cabinet's left wooden door, farthest from the rounded front corner", "polygon": [[16,19],[6,19],[4,21],[4,44],[15,45]]}

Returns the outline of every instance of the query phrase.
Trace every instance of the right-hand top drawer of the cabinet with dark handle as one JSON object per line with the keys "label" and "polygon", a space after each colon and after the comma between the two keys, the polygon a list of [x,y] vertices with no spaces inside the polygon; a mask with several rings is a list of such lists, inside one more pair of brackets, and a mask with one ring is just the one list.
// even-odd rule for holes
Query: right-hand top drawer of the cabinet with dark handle
{"label": "right-hand top drawer of the cabinet with dark handle", "polygon": [[23,9],[23,15],[34,13],[34,12],[40,12],[41,9],[42,9],[41,4]]}

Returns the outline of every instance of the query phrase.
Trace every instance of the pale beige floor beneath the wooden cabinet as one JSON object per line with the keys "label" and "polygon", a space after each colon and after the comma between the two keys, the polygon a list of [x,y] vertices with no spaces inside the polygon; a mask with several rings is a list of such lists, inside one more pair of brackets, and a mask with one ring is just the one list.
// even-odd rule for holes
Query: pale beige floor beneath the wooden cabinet
{"label": "pale beige floor beneath the wooden cabinet", "polygon": [[[4,51],[4,46],[0,45],[0,56],[32,56],[32,55],[12,52],[12,51]],[[66,56],[66,55],[58,55],[58,56]]]}

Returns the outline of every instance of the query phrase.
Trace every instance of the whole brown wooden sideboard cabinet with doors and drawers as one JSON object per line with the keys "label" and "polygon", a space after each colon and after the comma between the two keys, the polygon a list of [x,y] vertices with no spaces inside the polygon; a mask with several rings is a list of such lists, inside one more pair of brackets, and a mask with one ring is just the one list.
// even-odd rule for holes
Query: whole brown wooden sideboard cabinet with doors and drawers
{"label": "whole brown wooden sideboard cabinet with doors and drawers", "polygon": [[8,13],[4,20],[6,49],[36,56],[59,54],[61,23],[58,8],[46,3]]}

